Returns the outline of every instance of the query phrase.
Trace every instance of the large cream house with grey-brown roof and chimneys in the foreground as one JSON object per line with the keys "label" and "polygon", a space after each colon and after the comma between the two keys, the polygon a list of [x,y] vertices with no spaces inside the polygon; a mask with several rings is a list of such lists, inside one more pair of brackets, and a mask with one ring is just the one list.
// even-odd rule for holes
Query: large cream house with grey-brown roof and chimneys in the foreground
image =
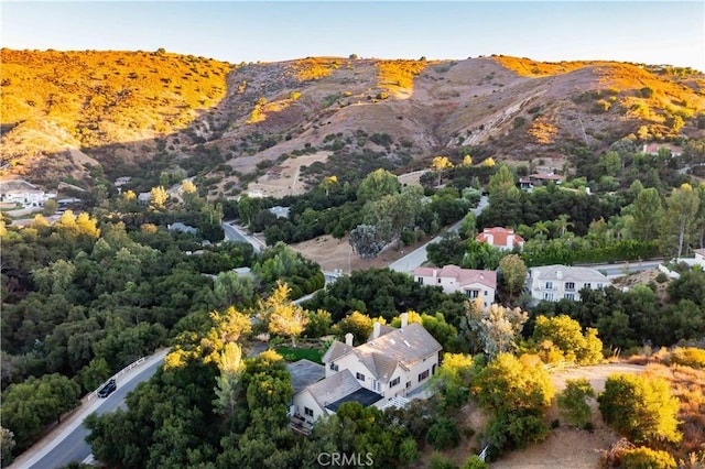
{"label": "large cream house with grey-brown roof and chimneys in the foreground", "polygon": [[292,423],[310,428],[346,402],[381,406],[419,391],[438,367],[441,343],[421,324],[402,315],[399,329],[376,323],[372,337],[352,347],[335,340],[323,356],[326,378],[294,394]]}

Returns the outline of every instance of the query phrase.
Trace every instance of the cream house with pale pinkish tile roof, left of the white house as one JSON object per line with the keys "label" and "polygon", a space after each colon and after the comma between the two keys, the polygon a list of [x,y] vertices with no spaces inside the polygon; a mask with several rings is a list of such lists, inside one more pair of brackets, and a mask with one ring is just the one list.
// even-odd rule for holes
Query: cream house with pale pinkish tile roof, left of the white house
{"label": "cream house with pale pinkish tile roof, left of the white house", "polygon": [[445,293],[460,292],[468,298],[482,297],[482,306],[495,303],[497,294],[497,272],[460,269],[457,265],[416,268],[414,279],[422,285],[443,287]]}

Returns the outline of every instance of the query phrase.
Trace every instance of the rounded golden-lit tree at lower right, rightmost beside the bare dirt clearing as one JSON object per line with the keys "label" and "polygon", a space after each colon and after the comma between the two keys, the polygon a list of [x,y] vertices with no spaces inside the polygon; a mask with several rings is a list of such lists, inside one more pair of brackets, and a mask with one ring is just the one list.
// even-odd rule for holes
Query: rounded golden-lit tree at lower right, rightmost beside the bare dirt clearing
{"label": "rounded golden-lit tree at lower right, rightmost beside the bare dirt clearing", "polygon": [[597,402],[605,422],[634,443],[677,443],[682,438],[679,401],[662,378],[611,374]]}

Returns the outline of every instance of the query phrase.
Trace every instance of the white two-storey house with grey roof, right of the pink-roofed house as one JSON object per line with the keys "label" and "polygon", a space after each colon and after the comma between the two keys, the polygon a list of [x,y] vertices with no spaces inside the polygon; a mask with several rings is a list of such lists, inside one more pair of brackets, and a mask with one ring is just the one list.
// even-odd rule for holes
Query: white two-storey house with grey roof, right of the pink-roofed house
{"label": "white two-storey house with grey roof, right of the pink-roofed house", "polygon": [[542,299],[581,301],[583,288],[599,290],[611,285],[609,279],[594,269],[568,265],[542,265],[529,269],[528,286],[534,303]]}

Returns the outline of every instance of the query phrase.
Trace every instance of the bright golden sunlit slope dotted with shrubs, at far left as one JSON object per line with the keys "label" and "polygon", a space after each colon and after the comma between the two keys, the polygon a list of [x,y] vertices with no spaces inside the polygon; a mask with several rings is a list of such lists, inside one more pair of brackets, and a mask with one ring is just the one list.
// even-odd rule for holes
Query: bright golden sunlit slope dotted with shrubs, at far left
{"label": "bright golden sunlit slope dotted with shrubs, at far left", "polygon": [[[150,153],[154,139],[185,129],[226,94],[230,65],[159,52],[0,51],[3,160],[42,177],[73,172],[95,151]],[[135,142],[147,149],[130,149]],[[80,174],[80,172],[78,173]]]}

